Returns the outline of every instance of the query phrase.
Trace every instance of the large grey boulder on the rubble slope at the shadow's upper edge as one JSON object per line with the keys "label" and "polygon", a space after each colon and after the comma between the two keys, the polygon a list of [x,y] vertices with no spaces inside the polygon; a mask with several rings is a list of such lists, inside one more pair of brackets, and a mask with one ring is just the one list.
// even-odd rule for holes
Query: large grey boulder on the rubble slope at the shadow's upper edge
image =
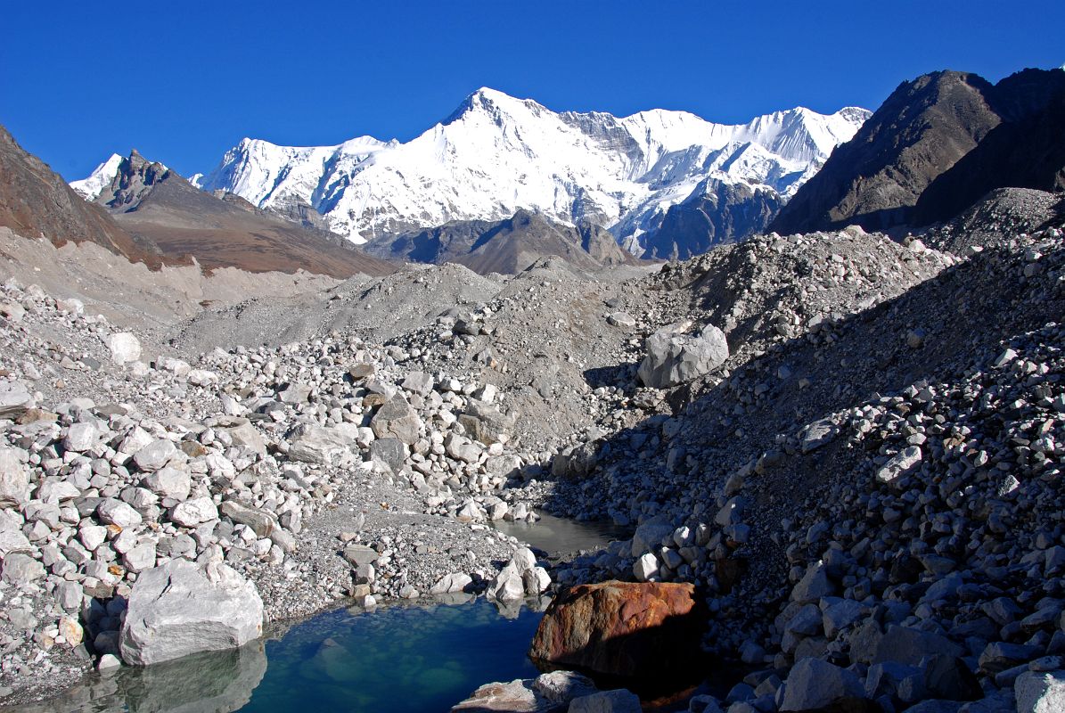
{"label": "large grey boulder on the rubble slope at the shadow's upper edge", "polygon": [[637,372],[644,386],[668,389],[707,374],[728,359],[723,331],[707,325],[699,336],[660,329],[648,338],[646,356]]}

